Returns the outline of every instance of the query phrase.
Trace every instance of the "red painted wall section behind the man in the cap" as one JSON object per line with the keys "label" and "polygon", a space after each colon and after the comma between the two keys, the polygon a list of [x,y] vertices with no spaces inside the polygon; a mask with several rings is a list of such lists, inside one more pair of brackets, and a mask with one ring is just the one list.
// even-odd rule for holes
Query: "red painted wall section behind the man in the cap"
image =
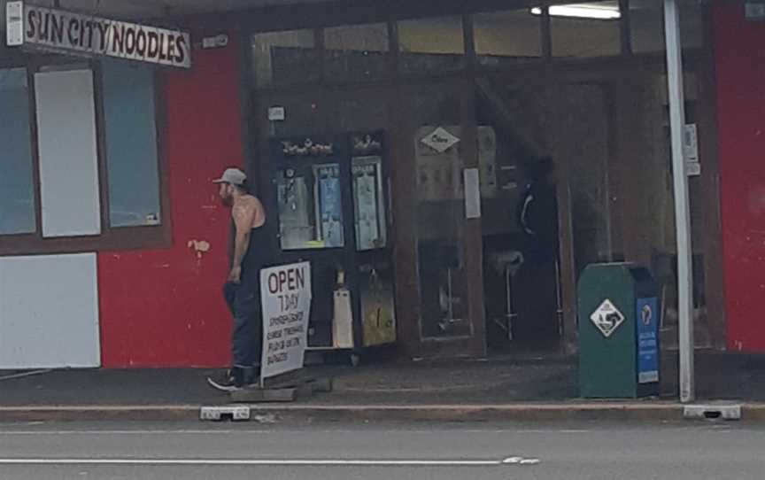
{"label": "red painted wall section behind the man in the cap", "polygon": [[[190,71],[165,74],[173,246],[98,255],[104,368],[222,367],[230,318],[220,297],[228,213],[211,183],[242,164],[239,46],[194,51]],[[189,242],[207,242],[201,253]]]}

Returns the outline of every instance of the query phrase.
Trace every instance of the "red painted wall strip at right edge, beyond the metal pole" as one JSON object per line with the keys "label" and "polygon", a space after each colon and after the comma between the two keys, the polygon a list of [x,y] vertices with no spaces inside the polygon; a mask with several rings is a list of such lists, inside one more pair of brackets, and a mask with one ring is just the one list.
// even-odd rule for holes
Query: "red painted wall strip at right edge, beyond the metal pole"
{"label": "red painted wall strip at right edge, beyond the metal pole", "polygon": [[765,351],[765,22],[713,15],[728,347]]}

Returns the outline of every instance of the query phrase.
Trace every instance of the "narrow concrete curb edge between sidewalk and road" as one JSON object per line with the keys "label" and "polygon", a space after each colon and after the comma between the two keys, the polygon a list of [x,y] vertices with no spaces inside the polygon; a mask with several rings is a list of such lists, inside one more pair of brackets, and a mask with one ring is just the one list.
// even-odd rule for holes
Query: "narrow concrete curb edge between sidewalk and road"
{"label": "narrow concrete curb edge between sidewalk and road", "polygon": [[[512,405],[241,405],[261,422],[676,422],[679,403],[560,403]],[[220,406],[225,410],[228,406]],[[214,406],[213,406],[214,408]],[[198,421],[201,406],[5,406],[0,422]],[[742,404],[746,422],[765,422],[765,404]]]}

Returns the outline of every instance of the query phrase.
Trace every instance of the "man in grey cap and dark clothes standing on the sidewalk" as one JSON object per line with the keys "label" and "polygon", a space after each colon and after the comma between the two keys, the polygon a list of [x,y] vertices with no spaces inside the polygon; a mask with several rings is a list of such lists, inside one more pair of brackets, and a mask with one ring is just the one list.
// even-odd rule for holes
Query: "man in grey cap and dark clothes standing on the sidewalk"
{"label": "man in grey cap and dark clothes standing on the sidewalk", "polygon": [[266,212],[257,197],[247,192],[247,175],[228,168],[220,179],[220,201],[231,209],[228,241],[230,270],[223,296],[234,317],[231,339],[232,368],[220,380],[208,382],[221,391],[236,391],[257,383],[262,351],[260,320],[260,268],[267,261]]}

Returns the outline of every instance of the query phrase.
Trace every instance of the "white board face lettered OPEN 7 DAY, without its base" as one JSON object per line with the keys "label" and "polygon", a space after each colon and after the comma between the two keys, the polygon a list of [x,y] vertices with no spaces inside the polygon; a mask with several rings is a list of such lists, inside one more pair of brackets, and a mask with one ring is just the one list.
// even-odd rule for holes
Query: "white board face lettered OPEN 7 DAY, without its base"
{"label": "white board face lettered OPEN 7 DAY, without its base", "polygon": [[311,263],[260,270],[263,356],[260,382],[303,368],[311,314]]}

